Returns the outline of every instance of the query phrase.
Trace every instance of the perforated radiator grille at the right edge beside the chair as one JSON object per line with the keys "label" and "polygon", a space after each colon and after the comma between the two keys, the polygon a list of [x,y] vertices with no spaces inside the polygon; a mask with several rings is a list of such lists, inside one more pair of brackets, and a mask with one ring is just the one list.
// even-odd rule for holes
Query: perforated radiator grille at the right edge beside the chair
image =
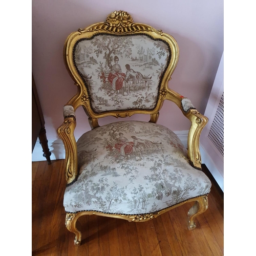
{"label": "perforated radiator grille at the right edge beside the chair", "polygon": [[224,156],[224,93],[222,94],[214,121],[211,124],[208,138]]}

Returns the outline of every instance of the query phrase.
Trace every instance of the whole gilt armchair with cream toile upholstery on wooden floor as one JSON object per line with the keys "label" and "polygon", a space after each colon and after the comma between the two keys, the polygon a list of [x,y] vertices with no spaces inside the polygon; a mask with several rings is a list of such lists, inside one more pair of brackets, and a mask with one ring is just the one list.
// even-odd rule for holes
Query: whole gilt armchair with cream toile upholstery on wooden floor
{"label": "whole gilt armchair with cream toile upholstery on wooden floor", "polygon": [[[75,245],[81,242],[76,222],[83,215],[143,222],[195,202],[187,217],[188,229],[194,229],[195,217],[208,207],[211,187],[199,152],[207,118],[168,88],[179,58],[175,39],[115,11],[106,22],[71,33],[63,56],[77,87],[57,130],[66,151],[66,226],[75,234]],[[191,122],[187,148],[157,124],[164,100],[175,102]],[[76,141],[79,106],[92,130]],[[98,123],[102,117],[134,114],[148,114],[149,120]]]}

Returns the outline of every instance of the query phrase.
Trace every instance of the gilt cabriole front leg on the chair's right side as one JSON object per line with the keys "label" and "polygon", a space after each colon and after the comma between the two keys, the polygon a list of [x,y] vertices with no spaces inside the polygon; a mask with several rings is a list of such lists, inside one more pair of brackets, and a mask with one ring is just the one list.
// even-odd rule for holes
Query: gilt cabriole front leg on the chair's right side
{"label": "gilt cabriole front leg on the chair's right side", "polygon": [[188,230],[196,228],[196,223],[194,219],[199,214],[202,214],[208,208],[208,198],[207,196],[202,196],[195,202],[195,204],[189,209],[187,213],[187,227]]}

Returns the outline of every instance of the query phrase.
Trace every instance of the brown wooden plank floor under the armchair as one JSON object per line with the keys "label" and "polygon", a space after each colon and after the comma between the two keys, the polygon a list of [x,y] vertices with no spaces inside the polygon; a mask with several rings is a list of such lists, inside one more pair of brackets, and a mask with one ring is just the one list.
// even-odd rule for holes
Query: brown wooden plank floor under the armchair
{"label": "brown wooden plank floor under the armchair", "polygon": [[223,255],[223,193],[215,182],[208,196],[209,208],[197,217],[197,228],[192,231],[186,227],[190,203],[142,223],[82,216],[77,222],[82,241],[76,247],[62,206],[64,162],[32,162],[32,256]]}

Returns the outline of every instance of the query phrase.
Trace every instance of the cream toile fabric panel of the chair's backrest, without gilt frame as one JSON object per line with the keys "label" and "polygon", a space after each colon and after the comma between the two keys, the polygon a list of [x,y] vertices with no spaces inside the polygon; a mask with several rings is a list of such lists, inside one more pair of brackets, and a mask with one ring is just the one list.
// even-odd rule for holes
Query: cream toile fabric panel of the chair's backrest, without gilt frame
{"label": "cream toile fabric panel of the chair's backrest, without gilt frame", "polygon": [[164,41],[142,34],[99,34],[80,39],[73,53],[95,113],[155,108],[170,57]]}

